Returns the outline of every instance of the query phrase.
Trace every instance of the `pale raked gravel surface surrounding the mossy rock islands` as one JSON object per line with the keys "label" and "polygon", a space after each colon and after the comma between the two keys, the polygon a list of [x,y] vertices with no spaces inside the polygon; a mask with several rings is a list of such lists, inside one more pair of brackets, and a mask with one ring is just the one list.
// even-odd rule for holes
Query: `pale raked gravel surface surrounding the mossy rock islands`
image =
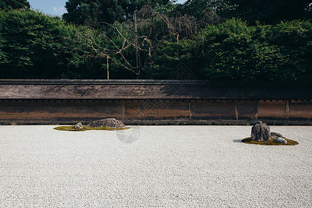
{"label": "pale raked gravel surface surrounding the mossy rock islands", "polygon": [[0,126],[0,207],[312,207],[311,126],[54,127]]}

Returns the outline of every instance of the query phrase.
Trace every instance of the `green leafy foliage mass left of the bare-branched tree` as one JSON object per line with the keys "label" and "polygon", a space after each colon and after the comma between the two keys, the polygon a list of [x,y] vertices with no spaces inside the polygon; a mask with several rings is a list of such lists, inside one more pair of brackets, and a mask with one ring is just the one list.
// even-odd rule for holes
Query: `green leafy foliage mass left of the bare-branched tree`
{"label": "green leafy foliage mass left of the bare-branched tree", "polygon": [[94,78],[101,69],[82,56],[83,42],[73,41],[89,28],[31,10],[0,11],[0,18],[1,78]]}

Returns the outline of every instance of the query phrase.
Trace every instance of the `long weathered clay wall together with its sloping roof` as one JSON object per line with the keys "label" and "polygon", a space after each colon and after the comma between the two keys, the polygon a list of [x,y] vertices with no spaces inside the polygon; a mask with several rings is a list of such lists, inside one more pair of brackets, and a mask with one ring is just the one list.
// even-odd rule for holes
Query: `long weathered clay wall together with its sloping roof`
{"label": "long weathered clay wall together with its sloping roof", "polygon": [[311,125],[312,87],[202,80],[0,80],[0,124]]}

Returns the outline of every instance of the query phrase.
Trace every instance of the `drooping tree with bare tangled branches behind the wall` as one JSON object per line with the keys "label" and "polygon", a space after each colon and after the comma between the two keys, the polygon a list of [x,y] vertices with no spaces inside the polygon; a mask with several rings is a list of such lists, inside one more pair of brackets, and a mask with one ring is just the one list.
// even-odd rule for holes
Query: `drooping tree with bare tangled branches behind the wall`
{"label": "drooping tree with bare tangled branches behind the wall", "polygon": [[[147,3],[141,10],[134,12],[132,19],[121,24],[97,23],[105,25],[106,31],[90,27],[88,33],[77,32],[75,41],[80,42],[82,46],[74,50],[80,51],[88,60],[105,58],[107,78],[109,78],[109,60],[135,73],[139,78],[142,67],[152,69],[153,55],[164,40],[176,40],[179,44],[179,40],[193,38],[200,33],[202,26],[216,21],[221,19],[213,12],[205,15],[201,21],[179,13],[176,13],[175,17],[167,17],[162,12],[155,11]],[[113,31],[113,36],[107,35],[108,29]],[[128,61],[129,53],[135,54],[135,64]],[[142,58],[145,60],[142,61]]]}

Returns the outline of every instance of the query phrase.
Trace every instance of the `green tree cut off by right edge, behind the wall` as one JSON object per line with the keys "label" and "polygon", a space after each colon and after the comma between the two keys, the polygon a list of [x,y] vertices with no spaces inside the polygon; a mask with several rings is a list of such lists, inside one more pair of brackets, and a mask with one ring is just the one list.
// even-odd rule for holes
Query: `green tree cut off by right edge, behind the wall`
{"label": "green tree cut off by right edge, behind the wall", "polygon": [[287,61],[281,67],[284,76],[307,81],[312,78],[312,23],[310,21],[286,21],[270,26],[266,41],[279,47]]}

